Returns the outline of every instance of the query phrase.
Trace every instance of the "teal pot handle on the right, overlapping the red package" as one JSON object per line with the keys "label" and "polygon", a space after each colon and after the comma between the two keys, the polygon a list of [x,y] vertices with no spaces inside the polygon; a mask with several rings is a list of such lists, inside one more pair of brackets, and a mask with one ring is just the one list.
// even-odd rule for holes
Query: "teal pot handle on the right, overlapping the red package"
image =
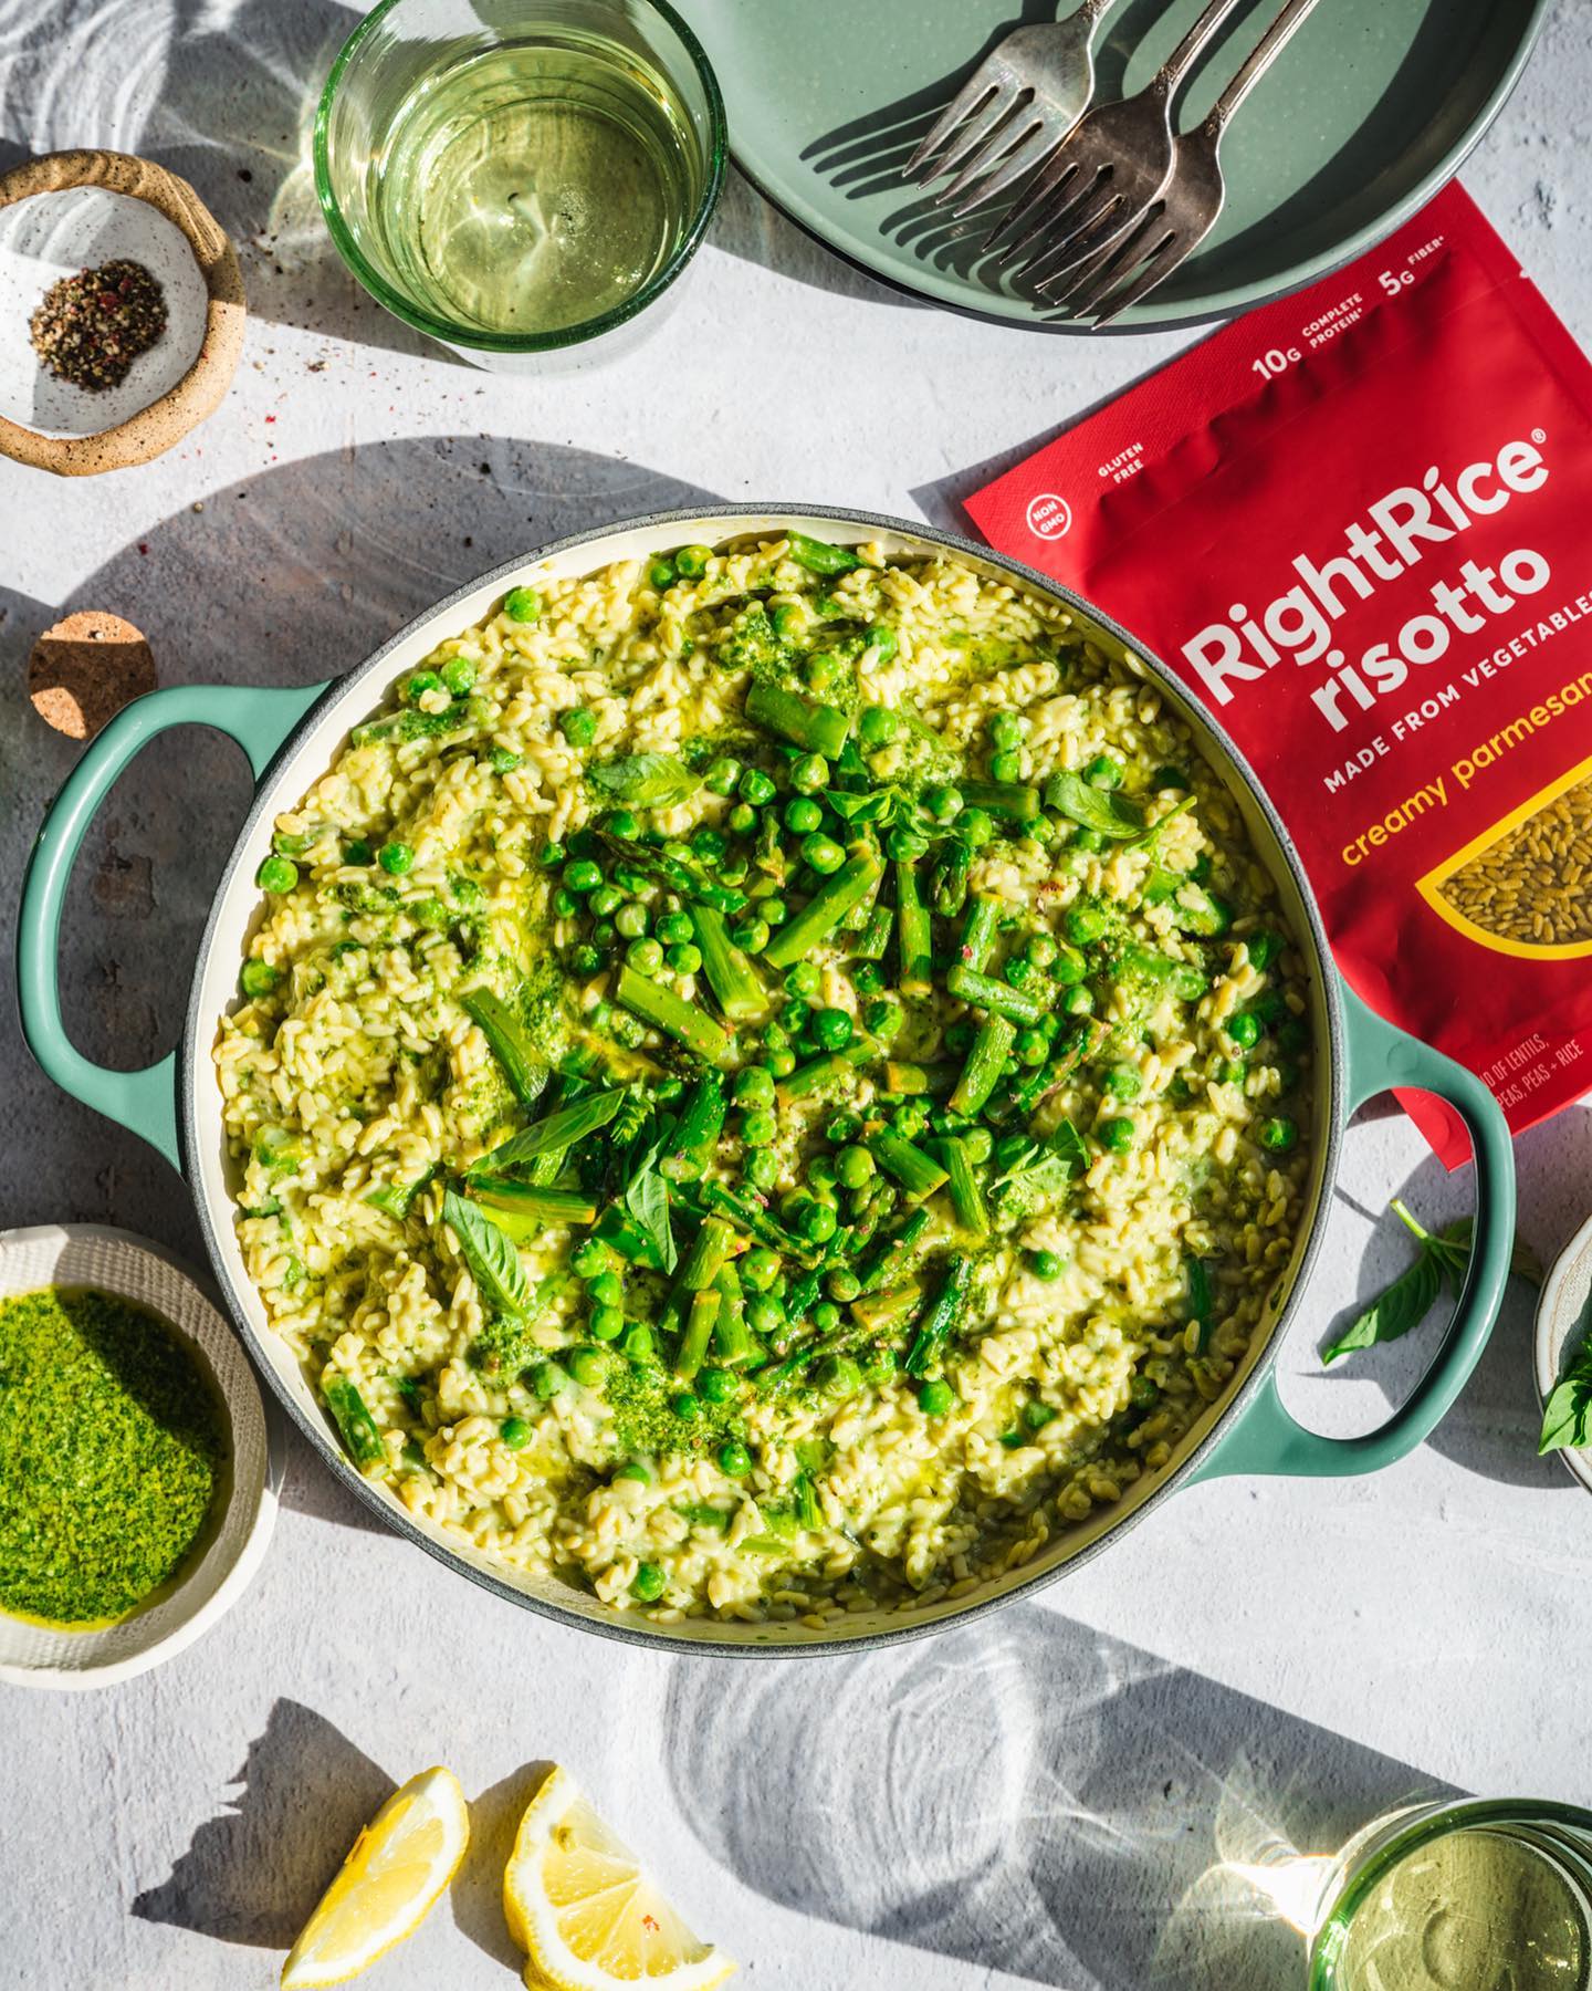
{"label": "teal pot handle on the right, overlapping the red package", "polygon": [[1343,1025],[1349,1051],[1347,1111],[1397,1085],[1437,1093],[1471,1129],[1477,1222],[1465,1290],[1427,1374],[1375,1432],[1365,1432],[1363,1438],[1323,1438],[1305,1430],[1284,1410],[1276,1374],[1268,1370],[1254,1402],[1222,1434],[1210,1459],[1202,1459],[1190,1479],[1220,1479],[1230,1473],[1337,1477],[1393,1465],[1421,1443],[1465,1388],[1498,1316],[1514,1250],[1514,1151],[1496,1099],[1473,1071],[1385,1023],[1347,986]]}

